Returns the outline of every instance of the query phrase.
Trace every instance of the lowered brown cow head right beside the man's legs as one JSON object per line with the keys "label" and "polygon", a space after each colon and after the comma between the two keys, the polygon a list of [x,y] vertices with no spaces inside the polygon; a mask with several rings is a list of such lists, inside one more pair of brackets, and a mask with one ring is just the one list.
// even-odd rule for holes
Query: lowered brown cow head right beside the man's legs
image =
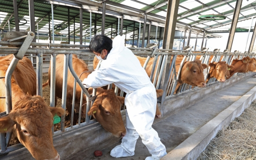
{"label": "lowered brown cow head right beside the man's legs", "polygon": [[[92,89],[89,89],[90,92]],[[123,137],[126,134],[122,116],[121,103],[124,103],[124,97],[115,96],[114,90],[103,90],[97,88],[96,99],[88,112],[88,115],[95,115],[97,121],[102,127],[114,134],[116,137]]]}

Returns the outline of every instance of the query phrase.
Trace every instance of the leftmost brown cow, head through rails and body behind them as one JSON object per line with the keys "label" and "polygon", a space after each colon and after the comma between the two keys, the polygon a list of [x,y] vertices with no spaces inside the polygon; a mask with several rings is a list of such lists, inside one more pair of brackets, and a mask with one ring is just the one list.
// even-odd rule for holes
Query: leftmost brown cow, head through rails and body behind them
{"label": "leftmost brown cow, head through rails and body behind them", "polygon": [[[5,77],[13,55],[0,57],[0,77]],[[36,94],[36,74],[28,58],[19,60],[13,75],[12,111],[0,117],[0,132],[13,132],[36,160],[59,160],[53,147],[51,128],[53,115],[64,114],[64,109],[47,106]],[[5,96],[5,81],[0,79],[0,96]],[[0,99],[1,112],[5,111],[5,99]]]}

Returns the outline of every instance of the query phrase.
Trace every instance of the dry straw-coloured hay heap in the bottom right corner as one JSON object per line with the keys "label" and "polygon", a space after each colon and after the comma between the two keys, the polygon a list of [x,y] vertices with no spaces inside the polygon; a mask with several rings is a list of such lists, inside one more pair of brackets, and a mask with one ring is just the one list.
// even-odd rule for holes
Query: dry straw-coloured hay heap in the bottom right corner
{"label": "dry straw-coloured hay heap in the bottom right corner", "polygon": [[197,160],[256,160],[256,100],[218,132]]}

